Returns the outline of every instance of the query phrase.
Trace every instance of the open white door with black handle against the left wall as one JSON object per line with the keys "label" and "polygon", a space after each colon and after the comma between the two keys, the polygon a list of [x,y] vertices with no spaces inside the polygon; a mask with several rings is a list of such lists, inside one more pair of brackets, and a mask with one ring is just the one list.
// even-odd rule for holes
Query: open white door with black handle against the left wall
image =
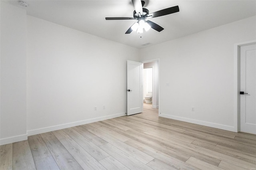
{"label": "open white door with black handle against the left wall", "polygon": [[143,110],[142,69],[143,63],[127,61],[127,116]]}

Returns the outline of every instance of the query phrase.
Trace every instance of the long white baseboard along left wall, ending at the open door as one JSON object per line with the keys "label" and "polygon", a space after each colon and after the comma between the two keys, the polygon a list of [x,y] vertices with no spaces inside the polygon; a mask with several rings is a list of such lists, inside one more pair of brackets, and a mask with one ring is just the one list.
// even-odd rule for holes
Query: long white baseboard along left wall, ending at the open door
{"label": "long white baseboard along left wall, ending at the open door", "polygon": [[35,130],[28,130],[27,133],[28,133],[28,136],[31,136],[31,135],[35,135],[35,134],[51,132],[51,131],[54,131],[54,130],[60,130],[60,129],[64,129],[64,128],[75,127],[75,126],[84,125],[84,124],[88,124],[88,123],[104,121],[104,120],[107,120],[107,119],[112,119],[112,118],[121,117],[121,116],[125,116],[125,115],[126,115],[126,113],[118,113],[118,114],[104,116],[104,117],[97,117],[97,118],[94,118],[94,119],[87,119],[87,120],[78,121],[78,122],[56,125],[56,126],[52,126],[52,127],[38,128],[38,129],[35,129]]}

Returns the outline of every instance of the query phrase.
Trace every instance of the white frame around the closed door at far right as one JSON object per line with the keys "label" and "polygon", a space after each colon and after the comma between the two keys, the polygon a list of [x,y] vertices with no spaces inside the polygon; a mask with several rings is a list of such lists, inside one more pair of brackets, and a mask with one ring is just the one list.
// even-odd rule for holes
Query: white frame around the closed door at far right
{"label": "white frame around the closed door at far right", "polygon": [[256,40],[234,45],[234,132],[240,131],[240,47],[256,43]]}

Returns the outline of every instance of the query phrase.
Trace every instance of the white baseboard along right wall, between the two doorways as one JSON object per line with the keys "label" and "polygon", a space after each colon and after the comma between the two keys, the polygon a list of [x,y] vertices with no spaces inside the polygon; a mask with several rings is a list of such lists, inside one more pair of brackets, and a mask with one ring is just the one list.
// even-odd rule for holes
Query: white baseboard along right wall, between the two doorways
{"label": "white baseboard along right wall, between the two doorways", "polygon": [[203,126],[206,126],[206,127],[219,128],[219,129],[222,129],[222,130],[228,130],[228,131],[232,131],[232,132],[237,132],[237,129],[235,127],[227,126],[227,125],[221,125],[221,124],[217,124],[217,123],[199,121],[199,120],[189,119],[189,118],[185,118],[185,117],[166,115],[166,114],[162,114],[162,113],[159,114],[159,117],[165,117],[165,118],[174,119],[174,120],[177,120],[177,121],[194,123],[194,124],[203,125]]}

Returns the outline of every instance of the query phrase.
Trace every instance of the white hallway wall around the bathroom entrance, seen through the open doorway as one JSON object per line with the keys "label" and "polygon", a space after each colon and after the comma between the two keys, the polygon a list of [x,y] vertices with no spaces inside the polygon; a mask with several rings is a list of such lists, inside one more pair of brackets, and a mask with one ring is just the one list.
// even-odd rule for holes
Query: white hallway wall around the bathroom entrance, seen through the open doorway
{"label": "white hallway wall around the bathroom entrance, seen through the open doorway", "polygon": [[159,67],[158,61],[152,61],[144,63],[144,68],[153,68],[153,97],[152,97],[152,107],[158,108],[158,96],[159,96]]}

